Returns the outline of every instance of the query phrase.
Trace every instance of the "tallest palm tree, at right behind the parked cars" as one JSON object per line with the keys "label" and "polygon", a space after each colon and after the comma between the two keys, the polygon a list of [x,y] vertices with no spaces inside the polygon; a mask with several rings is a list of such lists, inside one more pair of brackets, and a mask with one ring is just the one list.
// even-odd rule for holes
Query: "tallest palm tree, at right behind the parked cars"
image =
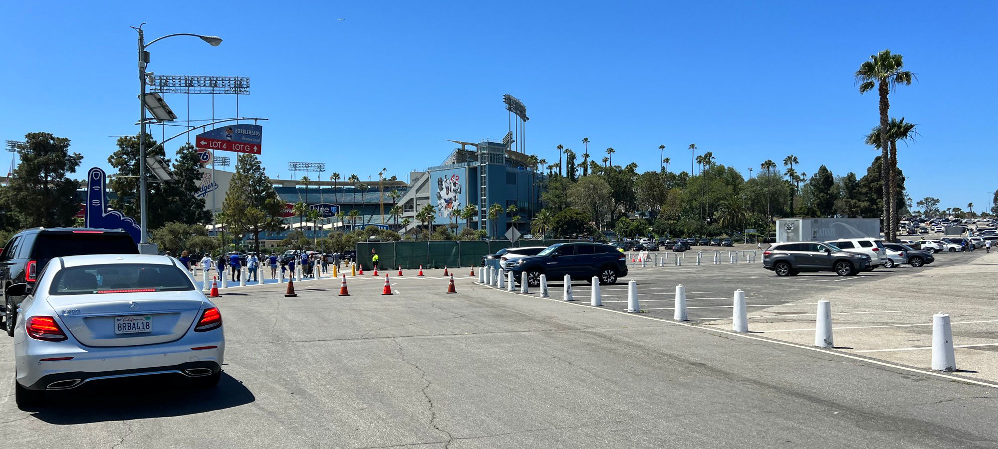
{"label": "tallest palm tree, at right behind the parked cars", "polygon": [[[859,94],[865,94],[877,89],[880,96],[878,105],[880,111],[880,179],[883,180],[883,222],[893,224],[893,212],[890,210],[890,174],[896,169],[890,165],[889,147],[887,144],[889,130],[890,102],[887,95],[897,87],[898,84],[910,86],[915,76],[904,67],[903,57],[884,50],[876,55],[870,55],[869,61],[864,61],[859,65],[859,70],[854,74],[856,83],[859,84]],[[890,186],[888,186],[890,185]],[[893,225],[890,225],[893,227]],[[888,234],[890,232],[888,231]],[[889,238],[889,235],[888,235]]]}

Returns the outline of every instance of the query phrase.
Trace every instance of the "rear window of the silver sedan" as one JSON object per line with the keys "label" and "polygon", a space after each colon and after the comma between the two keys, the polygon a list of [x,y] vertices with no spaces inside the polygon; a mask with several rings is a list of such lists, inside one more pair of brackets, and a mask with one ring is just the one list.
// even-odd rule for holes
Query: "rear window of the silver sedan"
{"label": "rear window of the silver sedan", "polygon": [[49,294],[138,293],[193,290],[194,283],[175,265],[108,263],[70,266],[52,279]]}

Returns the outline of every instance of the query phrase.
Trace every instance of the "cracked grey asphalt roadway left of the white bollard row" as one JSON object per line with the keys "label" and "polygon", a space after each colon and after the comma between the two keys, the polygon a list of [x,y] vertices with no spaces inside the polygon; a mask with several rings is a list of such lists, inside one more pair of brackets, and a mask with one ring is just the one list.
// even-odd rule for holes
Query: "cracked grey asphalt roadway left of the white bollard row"
{"label": "cracked grey asphalt roadway left of the white bollard row", "polygon": [[994,388],[456,280],[230,288],[216,390],[134,379],[31,412],[0,397],[0,432],[51,448],[998,447]]}

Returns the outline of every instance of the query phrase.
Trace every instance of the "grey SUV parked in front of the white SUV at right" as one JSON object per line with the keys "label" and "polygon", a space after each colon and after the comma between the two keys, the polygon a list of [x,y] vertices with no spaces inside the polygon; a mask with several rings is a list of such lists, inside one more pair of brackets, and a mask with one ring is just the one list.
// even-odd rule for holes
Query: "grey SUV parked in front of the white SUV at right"
{"label": "grey SUV parked in front of the white SUV at right", "polygon": [[834,271],[850,276],[867,269],[870,257],[842,250],[820,241],[788,241],[776,243],[762,251],[762,266],[777,276],[795,276],[800,272]]}

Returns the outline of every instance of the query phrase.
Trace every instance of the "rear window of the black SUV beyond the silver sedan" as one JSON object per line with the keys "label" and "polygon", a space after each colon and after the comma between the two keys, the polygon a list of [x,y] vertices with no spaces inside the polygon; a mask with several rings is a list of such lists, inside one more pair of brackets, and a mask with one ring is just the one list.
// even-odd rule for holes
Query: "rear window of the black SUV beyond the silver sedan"
{"label": "rear window of the black SUV beyond the silver sedan", "polygon": [[139,248],[127,233],[39,232],[31,258],[53,259],[83,254],[137,254]]}

